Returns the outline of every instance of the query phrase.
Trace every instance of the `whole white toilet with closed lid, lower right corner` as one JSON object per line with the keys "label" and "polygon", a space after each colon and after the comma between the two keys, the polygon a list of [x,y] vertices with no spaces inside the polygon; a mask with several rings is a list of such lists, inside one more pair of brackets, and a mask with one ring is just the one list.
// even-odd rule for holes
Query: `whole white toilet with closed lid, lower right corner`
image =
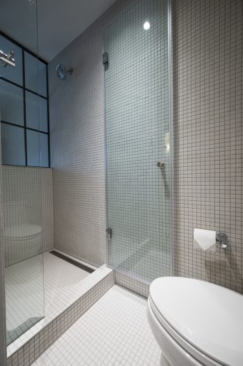
{"label": "whole white toilet with closed lid, lower right corner", "polygon": [[160,366],[242,366],[243,296],[183,277],[151,283],[146,308]]}

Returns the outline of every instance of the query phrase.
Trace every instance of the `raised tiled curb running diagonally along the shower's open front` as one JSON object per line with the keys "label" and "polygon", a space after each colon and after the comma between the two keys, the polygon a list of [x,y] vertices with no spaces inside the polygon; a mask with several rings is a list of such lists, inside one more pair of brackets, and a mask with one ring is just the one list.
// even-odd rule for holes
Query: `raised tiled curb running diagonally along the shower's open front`
{"label": "raised tiled curb running diagonally along the shower's open front", "polygon": [[47,311],[44,319],[8,346],[7,366],[31,365],[114,284],[115,271],[103,265],[58,292],[55,311]]}

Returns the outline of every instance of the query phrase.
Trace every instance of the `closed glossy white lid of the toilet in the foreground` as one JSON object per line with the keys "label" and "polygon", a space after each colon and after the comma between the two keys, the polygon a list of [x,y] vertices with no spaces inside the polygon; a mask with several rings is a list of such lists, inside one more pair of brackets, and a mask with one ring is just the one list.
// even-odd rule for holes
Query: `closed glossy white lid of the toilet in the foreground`
{"label": "closed glossy white lid of the toilet in the foreground", "polygon": [[163,277],[150,296],[162,319],[221,365],[243,365],[243,296],[191,278]]}

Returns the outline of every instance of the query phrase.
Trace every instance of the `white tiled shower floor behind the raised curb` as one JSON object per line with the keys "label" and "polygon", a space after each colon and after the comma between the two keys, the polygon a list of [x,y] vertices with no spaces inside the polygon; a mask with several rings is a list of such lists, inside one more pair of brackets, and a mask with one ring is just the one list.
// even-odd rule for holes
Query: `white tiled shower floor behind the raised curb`
{"label": "white tiled shower floor behind the raised curb", "polygon": [[[65,299],[90,275],[87,271],[47,252],[12,266],[5,272],[7,337],[10,348],[18,337],[44,318],[51,319],[65,307]],[[15,341],[15,342],[14,342]],[[8,348],[9,348],[8,347]]]}

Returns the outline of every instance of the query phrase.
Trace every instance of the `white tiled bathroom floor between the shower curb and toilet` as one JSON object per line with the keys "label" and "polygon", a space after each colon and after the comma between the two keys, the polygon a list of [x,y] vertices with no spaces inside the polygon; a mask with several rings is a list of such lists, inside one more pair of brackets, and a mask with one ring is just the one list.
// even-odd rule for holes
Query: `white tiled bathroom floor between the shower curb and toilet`
{"label": "white tiled bathroom floor between the shower curb and toilet", "polygon": [[160,365],[146,300],[113,286],[33,365]]}

